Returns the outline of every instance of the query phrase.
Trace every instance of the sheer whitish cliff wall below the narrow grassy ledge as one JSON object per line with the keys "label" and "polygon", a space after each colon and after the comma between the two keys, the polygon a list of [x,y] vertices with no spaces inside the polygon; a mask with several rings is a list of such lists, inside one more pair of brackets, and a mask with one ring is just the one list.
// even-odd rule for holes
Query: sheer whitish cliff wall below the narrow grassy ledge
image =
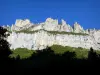
{"label": "sheer whitish cliff wall below the narrow grassy ledge", "polygon": [[52,34],[44,30],[39,30],[33,34],[11,33],[7,41],[11,44],[11,49],[28,48],[32,50],[41,50],[54,44],[71,47],[82,47],[89,49],[93,47],[100,50],[100,31],[93,32],[90,35],[74,34]]}

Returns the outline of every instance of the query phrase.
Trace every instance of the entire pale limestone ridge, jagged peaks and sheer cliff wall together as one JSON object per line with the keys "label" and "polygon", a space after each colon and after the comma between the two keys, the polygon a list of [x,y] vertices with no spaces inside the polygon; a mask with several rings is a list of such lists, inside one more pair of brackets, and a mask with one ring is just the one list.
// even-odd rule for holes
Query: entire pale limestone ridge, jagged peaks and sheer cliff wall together
{"label": "entire pale limestone ridge, jagged peaks and sheer cliff wall together", "polygon": [[[28,48],[32,50],[41,50],[47,46],[54,44],[71,47],[82,47],[89,49],[93,47],[95,50],[100,50],[100,30],[87,29],[84,30],[80,24],[75,22],[71,27],[63,19],[62,24],[58,24],[57,19],[47,18],[45,22],[39,24],[33,24],[28,19],[16,20],[15,24],[10,26],[3,26],[12,33],[8,36],[7,41],[11,44],[11,49],[16,48]],[[17,33],[16,31],[27,30],[36,31],[31,33]],[[73,32],[83,33],[88,35],[74,35],[74,34],[51,34],[48,31],[57,32]]]}

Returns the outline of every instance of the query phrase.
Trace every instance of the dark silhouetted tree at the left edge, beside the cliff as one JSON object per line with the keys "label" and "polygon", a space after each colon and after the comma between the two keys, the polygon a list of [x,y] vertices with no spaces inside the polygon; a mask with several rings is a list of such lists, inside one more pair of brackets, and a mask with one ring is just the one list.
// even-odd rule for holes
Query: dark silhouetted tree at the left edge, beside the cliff
{"label": "dark silhouetted tree at the left edge, beside the cliff", "polygon": [[0,27],[0,58],[7,58],[10,54],[10,48],[9,48],[9,43],[6,41],[7,30],[4,29],[3,27]]}

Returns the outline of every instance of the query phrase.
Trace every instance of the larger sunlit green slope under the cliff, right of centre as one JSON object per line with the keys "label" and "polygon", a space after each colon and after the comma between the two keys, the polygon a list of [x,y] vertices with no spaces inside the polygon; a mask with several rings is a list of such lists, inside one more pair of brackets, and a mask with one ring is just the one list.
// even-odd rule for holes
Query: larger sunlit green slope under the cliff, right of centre
{"label": "larger sunlit green slope under the cliff, right of centre", "polygon": [[74,48],[69,46],[59,46],[59,45],[53,45],[51,47],[52,50],[54,50],[55,53],[63,54],[67,51],[69,52],[75,52],[77,58],[87,58],[88,56],[88,50],[83,48]]}

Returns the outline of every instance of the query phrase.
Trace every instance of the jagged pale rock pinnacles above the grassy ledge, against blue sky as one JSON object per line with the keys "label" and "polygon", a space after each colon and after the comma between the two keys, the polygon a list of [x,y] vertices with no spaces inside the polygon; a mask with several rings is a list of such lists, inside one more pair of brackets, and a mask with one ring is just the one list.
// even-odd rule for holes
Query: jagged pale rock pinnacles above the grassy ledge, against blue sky
{"label": "jagged pale rock pinnacles above the grassy ledge, against blue sky", "polygon": [[45,22],[38,23],[38,24],[31,23],[29,19],[25,19],[25,20],[17,19],[15,24],[12,24],[12,26],[9,28],[10,31],[20,31],[25,29],[29,29],[29,31],[44,29],[47,31],[88,33],[77,22],[75,22],[74,27],[72,28],[63,19],[61,20],[61,24],[58,24],[58,20],[52,18],[47,18]]}

